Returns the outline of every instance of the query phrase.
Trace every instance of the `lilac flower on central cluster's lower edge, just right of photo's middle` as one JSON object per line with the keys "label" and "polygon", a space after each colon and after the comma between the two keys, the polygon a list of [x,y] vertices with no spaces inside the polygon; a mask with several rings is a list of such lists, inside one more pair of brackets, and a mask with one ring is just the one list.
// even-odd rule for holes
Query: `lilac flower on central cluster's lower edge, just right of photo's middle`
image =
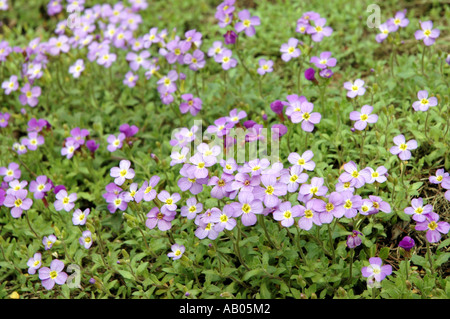
{"label": "lilac flower on central cluster's lower edge, just right of photo's middle", "polygon": [[241,191],[238,195],[239,203],[232,203],[234,217],[241,217],[244,226],[253,226],[256,224],[257,214],[262,214],[263,205],[251,192]]}

